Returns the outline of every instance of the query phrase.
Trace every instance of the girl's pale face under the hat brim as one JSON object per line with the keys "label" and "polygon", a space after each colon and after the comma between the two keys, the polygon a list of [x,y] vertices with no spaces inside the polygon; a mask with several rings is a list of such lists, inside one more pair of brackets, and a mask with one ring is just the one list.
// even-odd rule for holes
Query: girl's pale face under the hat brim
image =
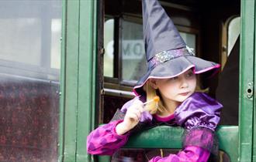
{"label": "girl's pale face under the hat brim", "polygon": [[169,79],[151,79],[151,86],[159,89],[161,96],[166,101],[183,102],[195,92],[196,77],[192,69],[179,76]]}

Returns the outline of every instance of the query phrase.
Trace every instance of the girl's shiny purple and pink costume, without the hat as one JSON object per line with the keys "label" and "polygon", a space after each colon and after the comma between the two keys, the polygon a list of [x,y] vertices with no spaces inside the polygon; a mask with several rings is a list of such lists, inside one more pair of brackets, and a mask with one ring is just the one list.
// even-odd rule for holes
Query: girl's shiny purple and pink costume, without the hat
{"label": "girl's shiny purple and pink costume, without the hat", "polygon": [[169,126],[185,128],[183,149],[178,154],[170,154],[168,157],[154,157],[150,162],[174,162],[174,161],[199,161],[204,162],[210,153],[216,154],[218,150],[214,130],[220,121],[220,109],[222,105],[205,93],[193,93],[181,105],[175,113],[168,117],[151,116],[145,111],[142,113],[140,123],[130,132],[119,136],[116,133],[116,125],[123,120],[127,108],[134,100],[143,100],[135,97],[127,102],[113,120],[93,130],[87,138],[87,150],[89,154],[112,155],[128,140],[133,131],[141,130],[141,127],[154,127],[159,123]]}

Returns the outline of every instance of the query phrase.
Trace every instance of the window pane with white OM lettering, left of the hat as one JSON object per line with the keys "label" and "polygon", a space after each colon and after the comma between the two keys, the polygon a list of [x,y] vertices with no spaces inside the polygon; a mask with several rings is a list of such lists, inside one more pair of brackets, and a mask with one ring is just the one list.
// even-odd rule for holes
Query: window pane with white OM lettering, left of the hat
{"label": "window pane with white OM lettering, left of the hat", "polygon": [[123,21],[122,79],[137,81],[147,71],[142,24]]}

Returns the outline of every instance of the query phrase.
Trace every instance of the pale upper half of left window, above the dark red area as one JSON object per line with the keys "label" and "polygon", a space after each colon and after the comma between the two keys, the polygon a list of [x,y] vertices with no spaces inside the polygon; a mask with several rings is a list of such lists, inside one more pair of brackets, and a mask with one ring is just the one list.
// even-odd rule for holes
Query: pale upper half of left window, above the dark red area
{"label": "pale upper half of left window, above the dark red area", "polygon": [[58,81],[61,0],[1,1],[0,72]]}

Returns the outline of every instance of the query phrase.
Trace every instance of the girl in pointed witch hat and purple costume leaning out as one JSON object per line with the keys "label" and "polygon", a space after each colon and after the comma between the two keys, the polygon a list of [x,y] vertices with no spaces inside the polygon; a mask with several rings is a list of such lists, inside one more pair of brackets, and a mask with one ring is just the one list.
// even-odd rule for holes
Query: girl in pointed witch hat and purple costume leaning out
{"label": "girl in pointed witch hat and purple costume leaning out", "polygon": [[[196,74],[213,75],[220,65],[195,57],[157,0],[143,0],[142,5],[147,73],[133,89],[137,96],[88,135],[88,153],[112,155],[133,132],[164,123],[185,128],[183,148],[150,162],[207,161],[218,150],[214,130],[222,105],[195,93]],[[160,101],[144,106],[154,96]]]}

